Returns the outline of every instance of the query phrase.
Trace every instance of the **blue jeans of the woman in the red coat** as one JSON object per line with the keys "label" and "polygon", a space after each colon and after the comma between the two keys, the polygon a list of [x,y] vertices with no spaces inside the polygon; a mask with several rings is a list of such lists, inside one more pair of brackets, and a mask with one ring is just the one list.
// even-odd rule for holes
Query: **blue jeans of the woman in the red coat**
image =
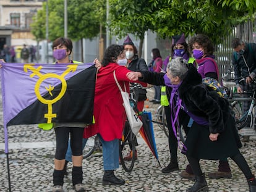
{"label": "blue jeans of the woman in the red coat", "polygon": [[[103,168],[104,170],[114,170],[119,167],[119,140],[114,139],[112,141],[104,141],[98,134],[103,148]],[[83,148],[88,139],[83,138]],[[69,146],[66,152],[66,161],[72,162],[72,151]]]}

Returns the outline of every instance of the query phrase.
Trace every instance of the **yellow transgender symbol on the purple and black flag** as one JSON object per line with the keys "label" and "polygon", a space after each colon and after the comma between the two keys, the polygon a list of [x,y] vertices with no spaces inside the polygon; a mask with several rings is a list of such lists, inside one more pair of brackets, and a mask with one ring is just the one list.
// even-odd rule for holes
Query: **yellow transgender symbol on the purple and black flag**
{"label": "yellow transgender symbol on the purple and black flag", "polygon": [[[54,102],[59,101],[59,99],[61,99],[62,96],[64,96],[67,90],[67,82],[64,77],[69,72],[75,72],[75,70],[77,70],[77,65],[76,64],[67,65],[67,69],[61,75],[57,75],[55,73],[46,73],[45,75],[43,75],[40,73],[40,70],[43,67],[39,66],[38,68],[35,69],[35,67],[33,67],[34,65],[35,64],[25,64],[23,69],[24,69],[24,72],[28,72],[28,70],[31,70],[33,72],[32,74],[30,74],[31,78],[33,78],[35,75],[39,77],[38,81],[35,84],[35,94],[39,101],[41,101],[43,104],[48,105],[48,113],[45,114],[45,118],[47,119],[47,123],[51,123],[51,120],[57,117],[57,114],[53,114],[53,104]],[[40,85],[47,78],[57,78],[58,80],[61,81],[61,91],[59,92],[58,96],[56,96],[56,98],[53,98],[51,100],[43,98],[40,94]],[[54,90],[53,85],[49,85],[49,87],[45,86],[45,89],[49,92],[51,96],[53,96],[53,93],[51,92]]]}

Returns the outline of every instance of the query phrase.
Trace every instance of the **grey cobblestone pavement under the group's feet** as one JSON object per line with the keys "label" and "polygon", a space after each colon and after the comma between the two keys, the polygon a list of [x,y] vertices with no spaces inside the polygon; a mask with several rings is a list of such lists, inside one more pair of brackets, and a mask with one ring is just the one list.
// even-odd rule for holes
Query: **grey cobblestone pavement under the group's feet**
{"label": "grey cobblestone pavement under the group's feet", "polygon": [[[148,90],[148,98],[153,98],[153,89]],[[152,115],[158,107],[156,104],[146,101]],[[2,125],[2,112],[0,113]],[[118,177],[126,180],[123,186],[103,186],[102,157],[90,156],[83,161],[83,183],[87,186],[87,191],[186,191],[193,184],[189,180],[179,176],[181,170],[187,165],[186,157],[178,152],[179,169],[172,173],[161,172],[164,166],[169,163],[168,139],[163,131],[154,125],[156,146],[158,149],[160,167],[155,157],[142,138],[138,138],[139,146],[138,160],[135,161],[134,170],[131,173],[125,172],[122,167],[115,171]],[[9,127],[9,165],[11,173],[12,191],[50,191],[52,187],[53,158],[54,158],[54,131],[43,131],[35,125],[23,125]],[[249,143],[244,143],[241,151],[245,159],[256,173],[255,162],[256,140],[252,138]],[[247,182],[241,170],[237,168],[233,161],[229,161],[233,174],[232,179],[209,179],[207,178],[210,191],[249,191]],[[206,174],[218,169],[218,161],[201,161],[202,170]],[[68,167],[71,172],[71,164]],[[7,179],[7,162],[4,153],[4,130],[0,128],[0,191],[9,191]],[[64,191],[74,191],[72,189],[72,178],[69,174],[64,179]]]}

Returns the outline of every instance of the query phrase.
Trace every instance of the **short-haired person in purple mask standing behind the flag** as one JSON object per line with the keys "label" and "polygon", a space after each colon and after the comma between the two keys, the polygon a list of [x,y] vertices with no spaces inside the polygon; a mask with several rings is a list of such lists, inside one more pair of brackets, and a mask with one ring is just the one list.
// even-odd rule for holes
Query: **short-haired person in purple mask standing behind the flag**
{"label": "short-haired person in purple mask standing behind the flag", "polygon": [[[25,47],[25,46],[24,46]],[[81,63],[69,59],[72,52],[72,41],[69,38],[58,38],[53,42],[53,56],[58,64]],[[27,48],[26,48],[27,49]],[[56,135],[56,152],[54,156],[54,172],[53,172],[53,192],[62,192],[64,183],[64,165],[67,146],[70,135],[70,146],[72,149],[72,184],[75,191],[85,191],[82,184],[82,139],[84,123],[54,123],[54,131]]]}

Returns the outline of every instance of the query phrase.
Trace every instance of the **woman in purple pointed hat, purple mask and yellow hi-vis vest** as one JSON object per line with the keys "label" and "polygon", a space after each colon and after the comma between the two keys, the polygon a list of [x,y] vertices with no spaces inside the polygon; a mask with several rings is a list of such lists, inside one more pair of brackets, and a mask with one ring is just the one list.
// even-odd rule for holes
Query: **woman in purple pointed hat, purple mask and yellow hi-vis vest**
{"label": "woman in purple pointed hat, purple mask and yellow hi-vis vest", "polygon": [[[163,70],[166,71],[166,67],[168,63],[176,58],[176,57],[182,57],[190,64],[195,64],[194,57],[190,57],[189,53],[189,44],[186,43],[186,38],[184,33],[181,35],[175,35],[172,38],[172,46],[171,46],[171,55],[167,56],[166,59],[163,62]],[[163,173],[170,173],[175,170],[179,170],[179,165],[177,162],[177,138],[174,135],[173,126],[171,125],[171,109],[169,107],[169,99],[170,99],[170,93],[171,88],[162,86],[161,88],[161,105],[164,106],[164,113],[166,117],[166,123],[168,126],[168,144],[169,144],[169,152],[170,152],[170,162],[167,165],[167,167],[164,167],[162,169]],[[179,118],[180,125],[183,124],[186,126],[186,123],[188,123],[189,117],[184,116],[183,119]]]}

